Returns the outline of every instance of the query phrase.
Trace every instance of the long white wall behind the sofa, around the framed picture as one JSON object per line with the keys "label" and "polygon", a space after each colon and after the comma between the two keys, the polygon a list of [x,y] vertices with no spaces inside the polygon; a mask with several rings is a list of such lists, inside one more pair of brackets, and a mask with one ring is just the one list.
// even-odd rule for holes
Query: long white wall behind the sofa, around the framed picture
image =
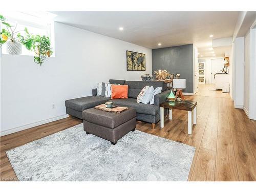
{"label": "long white wall behind the sofa, around the framed picture", "polygon": [[[126,50],[146,54],[146,71],[126,71]],[[55,57],[41,67],[32,56],[2,54],[1,135],[66,117],[65,100],[91,95],[97,81],[141,80],[151,58],[151,49],[55,23]]]}

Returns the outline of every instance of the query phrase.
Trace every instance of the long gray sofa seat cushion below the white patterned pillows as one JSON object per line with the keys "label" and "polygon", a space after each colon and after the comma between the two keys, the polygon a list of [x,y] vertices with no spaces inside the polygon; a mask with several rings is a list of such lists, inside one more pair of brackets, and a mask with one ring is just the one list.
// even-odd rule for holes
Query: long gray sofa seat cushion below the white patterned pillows
{"label": "long gray sofa seat cushion below the white patterned pillows", "polygon": [[151,104],[137,103],[137,99],[127,98],[127,99],[111,99],[113,104],[128,106],[136,109],[137,113],[143,113],[148,115],[156,115],[159,113],[159,107]]}

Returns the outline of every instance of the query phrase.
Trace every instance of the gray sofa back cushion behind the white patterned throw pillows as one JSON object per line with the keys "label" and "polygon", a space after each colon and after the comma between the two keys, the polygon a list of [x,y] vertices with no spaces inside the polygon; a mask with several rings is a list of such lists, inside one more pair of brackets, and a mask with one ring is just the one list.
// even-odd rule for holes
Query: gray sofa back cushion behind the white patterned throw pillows
{"label": "gray sofa back cushion behind the white patterned throw pillows", "polygon": [[162,92],[167,89],[166,84],[163,81],[125,81],[124,84],[128,85],[128,97],[137,98],[140,91],[145,86],[153,86],[154,89],[157,87],[162,87]]}

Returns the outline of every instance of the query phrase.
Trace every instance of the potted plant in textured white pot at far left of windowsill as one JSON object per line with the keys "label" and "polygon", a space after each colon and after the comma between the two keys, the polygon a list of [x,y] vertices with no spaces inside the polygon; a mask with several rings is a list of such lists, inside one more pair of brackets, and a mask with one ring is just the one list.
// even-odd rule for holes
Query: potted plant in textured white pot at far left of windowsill
{"label": "potted plant in textured white pot at far left of windowsill", "polygon": [[22,44],[17,40],[18,31],[16,31],[17,24],[11,26],[9,23],[6,23],[6,18],[3,15],[0,15],[0,20],[3,25],[6,26],[6,29],[2,29],[0,32],[0,47],[6,43],[6,51],[9,54],[21,54],[22,53]]}

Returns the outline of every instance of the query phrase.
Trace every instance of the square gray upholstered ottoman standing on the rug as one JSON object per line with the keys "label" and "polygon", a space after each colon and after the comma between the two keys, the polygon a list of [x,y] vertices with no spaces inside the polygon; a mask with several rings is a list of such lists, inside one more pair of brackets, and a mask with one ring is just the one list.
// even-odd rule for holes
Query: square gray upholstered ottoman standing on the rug
{"label": "square gray upholstered ottoman standing on the rug", "polygon": [[82,112],[83,130],[116,144],[136,128],[136,110],[129,108],[121,113],[111,113],[94,108]]}

